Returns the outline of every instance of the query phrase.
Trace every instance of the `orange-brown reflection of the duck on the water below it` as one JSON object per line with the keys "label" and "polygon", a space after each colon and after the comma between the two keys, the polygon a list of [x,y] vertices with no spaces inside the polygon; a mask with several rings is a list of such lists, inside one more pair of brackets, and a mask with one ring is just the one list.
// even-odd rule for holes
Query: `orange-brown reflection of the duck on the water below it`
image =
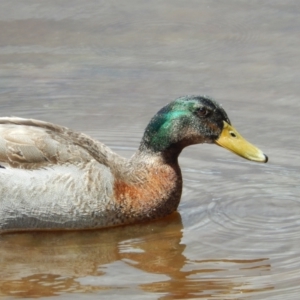
{"label": "orange-brown reflection of the duck on the water below it", "polygon": [[[235,282],[221,275],[230,274],[232,265],[234,271],[240,265],[240,276],[245,278],[249,270],[268,272],[266,259],[189,260],[184,255],[183,234],[181,216],[173,213],[158,221],[109,230],[2,235],[0,296],[75,293],[80,297],[96,292],[112,296],[125,288],[158,293],[163,299],[188,299],[271,288],[247,290],[246,279]],[[187,266],[190,271],[184,270]]]}

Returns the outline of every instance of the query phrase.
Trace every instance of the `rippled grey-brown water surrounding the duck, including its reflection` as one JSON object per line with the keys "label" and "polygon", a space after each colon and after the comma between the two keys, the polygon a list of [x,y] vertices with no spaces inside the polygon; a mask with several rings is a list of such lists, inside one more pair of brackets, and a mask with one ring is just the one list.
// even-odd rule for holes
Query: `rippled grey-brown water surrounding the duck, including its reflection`
{"label": "rippled grey-brown water surrounding the duck, including its reflection", "polygon": [[1,1],[1,115],[129,157],[164,104],[207,94],[270,162],[193,146],[169,218],[0,235],[0,295],[299,299],[299,13],[297,0]]}

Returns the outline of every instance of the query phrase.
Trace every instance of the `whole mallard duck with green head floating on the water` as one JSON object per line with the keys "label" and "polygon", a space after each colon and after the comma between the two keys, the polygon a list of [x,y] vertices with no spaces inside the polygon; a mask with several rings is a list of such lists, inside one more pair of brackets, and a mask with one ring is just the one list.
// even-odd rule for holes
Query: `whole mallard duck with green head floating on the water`
{"label": "whole mallard duck with green head floating on the water", "polygon": [[207,96],[163,107],[130,159],[66,127],[0,118],[0,230],[93,229],[169,215],[181,197],[178,156],[199,143],[268,160]]}

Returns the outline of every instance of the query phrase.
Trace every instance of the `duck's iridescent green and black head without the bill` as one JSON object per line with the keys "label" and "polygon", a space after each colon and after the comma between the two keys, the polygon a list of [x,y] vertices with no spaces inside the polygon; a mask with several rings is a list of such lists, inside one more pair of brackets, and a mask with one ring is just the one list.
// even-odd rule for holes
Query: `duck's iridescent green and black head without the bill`
{"label": "duck's iridescent green and black head without the bill", "polygon": [[213,143],[221,134],[223,121],[230,124],[224,109],[206,96],[178,98],[163,107],[146,128],[140,149],[153,152]]}

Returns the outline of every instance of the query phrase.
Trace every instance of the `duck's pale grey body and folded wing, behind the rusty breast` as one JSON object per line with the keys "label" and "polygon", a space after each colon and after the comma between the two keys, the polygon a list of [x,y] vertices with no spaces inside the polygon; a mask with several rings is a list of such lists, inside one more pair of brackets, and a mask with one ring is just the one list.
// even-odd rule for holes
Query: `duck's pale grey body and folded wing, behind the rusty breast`
{"label": "duck's pale grey body and folded wing, behind the rusty breast", "polygon": [[84,134],[0,118],[0,230],[117,224],[108,160],[123,161]]}

